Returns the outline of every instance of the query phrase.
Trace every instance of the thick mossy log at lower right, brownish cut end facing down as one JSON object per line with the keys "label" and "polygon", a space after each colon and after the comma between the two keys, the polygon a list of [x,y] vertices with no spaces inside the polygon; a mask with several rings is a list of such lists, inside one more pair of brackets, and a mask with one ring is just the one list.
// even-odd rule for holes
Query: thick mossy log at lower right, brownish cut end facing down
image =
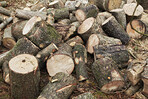
{"label": "thick mossy log at lower right, brownish cut end facing down", "polygon": [[117,64],[109,57],[100,58],[92,65],[92,71],[102,92],[113,93],[122,90],[124,79]]}

